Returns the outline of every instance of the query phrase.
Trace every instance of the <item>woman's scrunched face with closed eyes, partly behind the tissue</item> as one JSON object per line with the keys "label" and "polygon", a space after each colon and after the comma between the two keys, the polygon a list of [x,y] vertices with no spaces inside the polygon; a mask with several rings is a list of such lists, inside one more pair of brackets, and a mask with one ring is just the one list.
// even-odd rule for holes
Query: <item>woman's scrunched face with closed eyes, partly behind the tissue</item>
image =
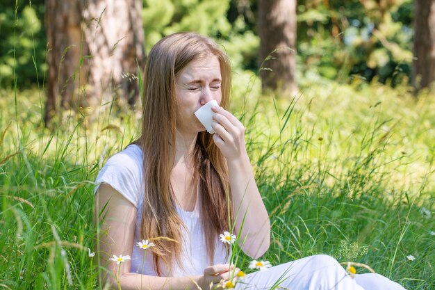
{"label": "woman's scrunched face with closed eyes, partly behind the tissue", "polygon": [[175,95],[179,102],[177,129],[181,134],[205,131],[194,113],[212,99],[220,104],[221,84],[220,63],[213,54],[190,62],[175,76]]}

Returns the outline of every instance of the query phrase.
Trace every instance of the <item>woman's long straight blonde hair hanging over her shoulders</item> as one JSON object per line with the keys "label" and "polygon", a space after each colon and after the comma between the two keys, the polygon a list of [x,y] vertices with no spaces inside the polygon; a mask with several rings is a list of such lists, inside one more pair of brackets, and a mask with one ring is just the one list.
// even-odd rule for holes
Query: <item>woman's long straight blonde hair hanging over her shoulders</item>
{"label": "woman's long straight blonde hair hanging over her shoulders", "polygon": [[[176,209],[176,200],[170,185],[175,157],[178,103],[175,96],[175,76],[188,63],[213,54],[220,62],[222,101],[227,108],[231,90],[231,65],[216,43],[197,33],[174,33],[154,45],[147,57],[144,74],[142,134],[136,144],[142,147],[145,196],[142,207],[140,233],[143,239],[160,236],[179,241],[156,239],[154,254],[156,273],[161,275],[159,262],[163,260],[172,271],[173,259],[179,266],[181,255],[181,227],[183,222]],[[197,136],[192,152],[194,178],[198,187],[199,209],[202,217],[208,259],[213,263],[215,237],[228,228],[228,209],[231,207],[229,177],[224,156],[206,131]],[[228,198],[227,198],[228,197]],[[205,223],[204,221],[207,221]]]}

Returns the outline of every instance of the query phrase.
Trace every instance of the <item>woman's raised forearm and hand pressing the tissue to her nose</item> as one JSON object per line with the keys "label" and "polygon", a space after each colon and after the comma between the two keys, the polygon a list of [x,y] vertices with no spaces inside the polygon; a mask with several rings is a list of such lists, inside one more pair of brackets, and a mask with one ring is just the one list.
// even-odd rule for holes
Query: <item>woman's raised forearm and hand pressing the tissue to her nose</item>
{"label": "woman's raised forearm and hand pressing the tissue to her nose", "polygon": [[[215,114],[213,136],[217,147],[227,159],[236,232],[240,247],[249,257],[260,257],[270,245],[270,220],[258,192],[252,166],[245,146],[243,124],[224,108],[212,108]],[[243,218],[245,222],[242,227]],[[240,230],[241,229],[241,230]]]}

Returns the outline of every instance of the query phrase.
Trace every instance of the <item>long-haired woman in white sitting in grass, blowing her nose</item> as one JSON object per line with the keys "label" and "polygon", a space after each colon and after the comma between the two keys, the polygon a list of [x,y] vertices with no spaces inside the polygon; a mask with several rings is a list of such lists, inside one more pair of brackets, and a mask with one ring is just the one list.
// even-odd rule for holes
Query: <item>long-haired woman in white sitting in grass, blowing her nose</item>
{"label": "long-haired woman in white sitting in grass, blowing her nose", "polygon": [[[225,109],[229,60],[213,40],[175,33],[151,49],[144,79],[142,134],[97,177],[97,253],[108,269],[102,278],[122,289],[220,288],[238,271],[227,264],[230,252],[220,234],[232,229],[254,259],[270,243],[270,220],[247,156],[245,129]],[[213,135],[194,115],[212,99],[220,104],[212,109]],[[142,239],[154,246],[147,248]],[[131,260],[116,264],[109,260],[113,255]],[[370,283],[403,289],[381,275],[352,279],[326,255],[249,274],[236,287],[265,289],[279,278],[281,287],[291,289],[375,289],[363,288]]]}

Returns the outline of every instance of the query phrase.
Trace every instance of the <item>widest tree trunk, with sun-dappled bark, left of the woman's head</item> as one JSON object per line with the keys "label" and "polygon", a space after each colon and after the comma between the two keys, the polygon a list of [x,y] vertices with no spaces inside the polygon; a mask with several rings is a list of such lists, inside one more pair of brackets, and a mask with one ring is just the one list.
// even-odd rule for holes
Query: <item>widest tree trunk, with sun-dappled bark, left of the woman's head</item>
{"label": "widest tree trunk, with sun-dappled bark, left of the woman's head", "polygon": [[141,0],[46,1],[46,124],[60,108],[99,111],[113,97],[136,102],[145,61],[141,11]]}

